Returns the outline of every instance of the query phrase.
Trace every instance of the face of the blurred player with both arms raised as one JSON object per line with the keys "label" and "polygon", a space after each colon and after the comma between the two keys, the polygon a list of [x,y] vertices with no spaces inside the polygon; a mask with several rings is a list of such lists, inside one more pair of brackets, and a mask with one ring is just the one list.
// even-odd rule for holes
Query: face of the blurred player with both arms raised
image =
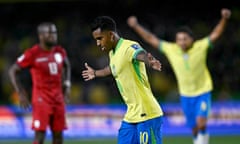
{"label": "face of the blurred player with both arms raised", "polygon": [[176,34],[176,43],[179,45],[183,51],[187,51],[189,47],[191,47],[193,42],[192,37],[190,37],[185,32],[178,32]]}

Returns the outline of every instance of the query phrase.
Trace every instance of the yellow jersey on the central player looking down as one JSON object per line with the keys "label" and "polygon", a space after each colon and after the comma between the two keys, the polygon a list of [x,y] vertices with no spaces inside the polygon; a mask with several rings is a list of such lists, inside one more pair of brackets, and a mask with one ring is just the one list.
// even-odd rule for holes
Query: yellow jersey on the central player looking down
{"label": "yellow jersey on the central player looking down", "polygon": [[137,42],[121,38],[116,48],[109,52],[112,75],[127,105],[124,121],[130,123],[163,115],[151,91],[145,64],[135,59],[142,51],[144,49]]}

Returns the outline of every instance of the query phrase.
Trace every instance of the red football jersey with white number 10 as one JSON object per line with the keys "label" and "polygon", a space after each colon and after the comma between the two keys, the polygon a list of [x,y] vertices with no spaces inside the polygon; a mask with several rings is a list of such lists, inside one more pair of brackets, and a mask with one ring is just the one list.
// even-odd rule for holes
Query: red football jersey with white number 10
{"label": "red football jersey with white number 10", "polygon": [[52,104],[64,101],[62,72],[65,58],[66,52],[61,46],[44,50],[36,44],[17,59],[21,68],[30,68],[32,102]]}

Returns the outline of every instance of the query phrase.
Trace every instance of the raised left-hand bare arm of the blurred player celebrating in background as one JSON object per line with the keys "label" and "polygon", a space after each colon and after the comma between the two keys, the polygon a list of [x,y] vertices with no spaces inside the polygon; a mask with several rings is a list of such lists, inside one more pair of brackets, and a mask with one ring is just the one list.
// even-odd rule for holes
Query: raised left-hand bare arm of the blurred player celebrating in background
{"label": "raised left-hand bare arm of the blurred player celebrating in background", "polygon": [[129,27],[131,27],[144,41],[146,41],[152,47],[158,49],[160,39],[140,25],[136,16],[130,16],[127,19],[127,23]]}

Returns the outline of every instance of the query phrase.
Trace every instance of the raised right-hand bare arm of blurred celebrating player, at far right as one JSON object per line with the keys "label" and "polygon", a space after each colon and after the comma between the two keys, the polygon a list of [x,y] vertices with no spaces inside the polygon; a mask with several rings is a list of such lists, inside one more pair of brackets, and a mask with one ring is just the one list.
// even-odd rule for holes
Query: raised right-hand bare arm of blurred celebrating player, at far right
{"label": "raised right-hand bare arm of blurred celebrating player, at far right", "polygon": [[231,16],[231,11],[229,9],[223,8],[221,10],[221,19],[218,22],[218,24],[215,26],[213,31],[211,32],[209,38],[211,42],[215,42],[223,33],[225,26],[227,24],[228,19]]}

